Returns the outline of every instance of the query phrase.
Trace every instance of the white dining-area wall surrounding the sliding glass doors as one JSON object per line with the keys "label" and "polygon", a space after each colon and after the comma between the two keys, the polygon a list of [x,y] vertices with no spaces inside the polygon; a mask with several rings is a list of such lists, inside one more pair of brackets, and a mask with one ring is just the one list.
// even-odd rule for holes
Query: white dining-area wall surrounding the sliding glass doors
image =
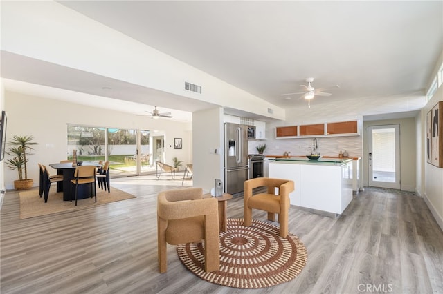
{"label": "white dining-area wall surrounding the sliding glass doors", "polygon": [[[161,130],[165,133],[165,161],[172,164],[172,157],[178,157],[184,163],[192,161],[189,157],[189,150],[192,150],[190,124],[168,119],[150,119],[8,91],[5,92],[5,110],[8,112],[7,141],[10,141],[12,135],[33,135],[39,143],[28,162],[28,177],[34,179],[34,186],[38,186],[37,163],[48,165],[66,159],[67,124]],[[174,149],[174,138],[183,138],[182,149]],[[6,166],[3,170],[6,188],[12,189],[13,181],[17,179],[17,170],[9,170]]]}

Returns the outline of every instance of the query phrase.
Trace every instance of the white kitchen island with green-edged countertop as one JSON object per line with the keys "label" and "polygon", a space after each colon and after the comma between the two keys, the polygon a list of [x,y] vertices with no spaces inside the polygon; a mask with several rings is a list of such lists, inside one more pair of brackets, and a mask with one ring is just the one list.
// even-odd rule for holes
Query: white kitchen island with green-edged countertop
{"label": "white kitchen island with green-edged countertop", "polygon": [[340,215],[352,200],[352,183],[346,179],[352,159],[275,159],[269,177],[291,179],[295,190],[291,205]]}

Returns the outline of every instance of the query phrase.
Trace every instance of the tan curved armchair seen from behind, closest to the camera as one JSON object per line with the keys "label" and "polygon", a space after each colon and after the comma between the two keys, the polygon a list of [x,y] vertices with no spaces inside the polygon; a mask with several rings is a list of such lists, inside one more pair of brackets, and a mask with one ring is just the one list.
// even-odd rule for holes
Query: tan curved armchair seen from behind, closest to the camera
{"label": "tan curved armchair seen from behind, closest to the camera", "polygon": [[157,198],[159,271],[167,269],[166,247],[205,240],[205,271],[220,265],[219,211],[217,199],[203,199],[201,188],[166,190]]}

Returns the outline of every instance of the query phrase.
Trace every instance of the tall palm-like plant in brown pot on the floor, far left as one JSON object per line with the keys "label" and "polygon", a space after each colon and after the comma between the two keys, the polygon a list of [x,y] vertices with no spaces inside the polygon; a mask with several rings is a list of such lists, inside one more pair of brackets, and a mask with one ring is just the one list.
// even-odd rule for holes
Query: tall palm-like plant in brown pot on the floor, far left
{"label": "tall palm-like plant in brown pot on the floor, far left", "polygon": [[31,146],[37,145],[38,143],[33,142],[33,136],[13,136],[12,141],[8,144],[12,147],[8,148],[6,152],[8,155],[13,156],[12,159],[8,159],[6,164],[11,170],[17,169],[19,173],[19,179],[14,181],[14,188],[16,190],[26,190],[33,186],[33,179],[28,179],[28,166],[26,165],[29,161],[28,155],[33,148]]}

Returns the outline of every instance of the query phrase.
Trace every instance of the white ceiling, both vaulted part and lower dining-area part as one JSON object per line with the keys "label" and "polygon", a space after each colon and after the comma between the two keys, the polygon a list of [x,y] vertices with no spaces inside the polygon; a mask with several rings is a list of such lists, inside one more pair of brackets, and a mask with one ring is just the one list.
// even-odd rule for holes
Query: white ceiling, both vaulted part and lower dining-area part
{"label": "white ceiling, both vaulted part and lower dining-area part", "polygon": [[[282,94],[299,92],[307,77],[316,88],[340,86],[311,103],[422,97],[443,44],[442,1],[58,2],[282,108],[306,107],[300,95]],[[2,52],[2,77],[109,96],[120,109],[129,95],[152,91],[39,61],[14,61],[33,64],[38,74],[12,70],[8,59],[24,58]],[[42,70],[51,66],[57,68]],[[70,78],[60,79],[65,73]],[[86,80],[123,90],[107,95]],[[179,105],[153,91],[164,111],[209,106],[192,99]]]}

